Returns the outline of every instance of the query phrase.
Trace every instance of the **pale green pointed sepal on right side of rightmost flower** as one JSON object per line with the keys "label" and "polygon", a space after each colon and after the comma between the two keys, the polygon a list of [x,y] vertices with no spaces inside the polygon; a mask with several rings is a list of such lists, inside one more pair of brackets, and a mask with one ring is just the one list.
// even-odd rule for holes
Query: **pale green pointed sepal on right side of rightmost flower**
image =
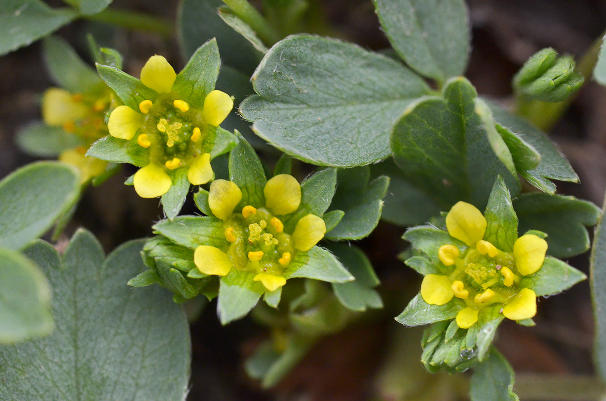
{"label": "pale green pointed sepal on right side of rightmost flower", "polygon": [[539,271],[522,278],[523,287],[530,288],[538,297],[561,293],[585,279],[584,273],[551,256],[545,257]]}

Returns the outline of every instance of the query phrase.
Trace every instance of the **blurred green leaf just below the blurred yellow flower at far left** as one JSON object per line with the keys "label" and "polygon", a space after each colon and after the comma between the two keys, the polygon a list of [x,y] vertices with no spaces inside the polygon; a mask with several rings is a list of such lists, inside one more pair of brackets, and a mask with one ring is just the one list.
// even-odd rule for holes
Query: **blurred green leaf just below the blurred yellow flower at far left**
{"label": "blurred green leaf just below the blurred yellow flower at far left", "polygon": [[19,131],[15,142],[24,153],[35,157],[58,157],[62,151],[82,145],[78,136],[42,122],[34,122]]}

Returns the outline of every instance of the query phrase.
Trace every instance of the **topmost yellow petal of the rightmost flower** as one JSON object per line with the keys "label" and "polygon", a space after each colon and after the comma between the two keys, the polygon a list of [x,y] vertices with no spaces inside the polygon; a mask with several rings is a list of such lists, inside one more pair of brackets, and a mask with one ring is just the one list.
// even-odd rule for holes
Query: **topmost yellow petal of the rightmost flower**
{"label": "topmost yellow petal of the rightmost flower", "polygon": [[484,237],[486,219],[481,211],[467,202],[457,202],[446,215],[448,234],[471,246]]}

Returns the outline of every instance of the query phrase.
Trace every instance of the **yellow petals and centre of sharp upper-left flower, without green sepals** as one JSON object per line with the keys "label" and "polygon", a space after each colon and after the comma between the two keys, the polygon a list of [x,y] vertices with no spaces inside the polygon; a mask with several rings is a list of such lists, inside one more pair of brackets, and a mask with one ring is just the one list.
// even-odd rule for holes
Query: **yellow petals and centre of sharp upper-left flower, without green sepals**
{"label": "yellow petals and centre of sharp upper-left flower, without green sepals", "polygon": [[218,127],[233,108],[228,94],[213,90],[202,107],[189,101],[187,94],[175,91],[177,75],[162,56],[151,56],[141,70],[141,82],[153,90],[153,97],[139,102],[138,110],[127,105],[116,107],[108,121],[109,133],[147,150],[149,164],[133,177],[141,197],[165,194],[173,184],[169,173],[187,168],[193,185],[213,179],[210,148],[213,128]]}

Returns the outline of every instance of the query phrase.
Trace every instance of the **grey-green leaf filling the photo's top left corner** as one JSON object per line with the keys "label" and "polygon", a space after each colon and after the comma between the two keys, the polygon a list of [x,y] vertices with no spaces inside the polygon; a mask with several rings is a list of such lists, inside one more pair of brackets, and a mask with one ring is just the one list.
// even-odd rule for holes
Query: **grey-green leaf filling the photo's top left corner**
{"label": "grey-green leaf filling the photo's top left corner", "polygon": [[0,2],[0,56],[27,46],[76,18],[71,8],[51,8],[40,0]]}

